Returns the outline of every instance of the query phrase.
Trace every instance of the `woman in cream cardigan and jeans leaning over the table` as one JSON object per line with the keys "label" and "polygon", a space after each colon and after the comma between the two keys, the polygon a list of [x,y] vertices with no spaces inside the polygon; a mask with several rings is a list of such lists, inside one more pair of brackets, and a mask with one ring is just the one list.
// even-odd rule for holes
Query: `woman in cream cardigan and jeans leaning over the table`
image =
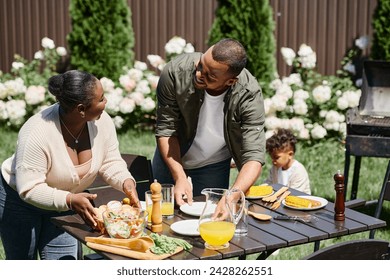
{"label": "woman in cream cardigan and jeans leaning over the table", "polygon": [[16,152],[1,166],[0,235],[7,259],[72,259],[77,241],[50,218],[96,214],[83,192],[99,174],[139,206],[135,181],[119,152],[107,100],[93,75],[72,70],[49,79],[58,103],[21,128]]}

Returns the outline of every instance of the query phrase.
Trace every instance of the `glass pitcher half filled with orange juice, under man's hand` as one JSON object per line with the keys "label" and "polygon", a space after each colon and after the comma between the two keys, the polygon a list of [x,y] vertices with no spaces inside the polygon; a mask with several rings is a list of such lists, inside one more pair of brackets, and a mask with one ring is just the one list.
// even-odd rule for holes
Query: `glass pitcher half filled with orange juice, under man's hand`
{"label": "glass pitcher half filled with orange juice, under man's hand", "polygon": [[[244,212],[245,195],[236,188],[206,188],[202,194],[206,196],[206,203],[199,218],[199,233],[205,247],[211,250],[228,248]],[[239,209],[233,212],[237,205]]]}

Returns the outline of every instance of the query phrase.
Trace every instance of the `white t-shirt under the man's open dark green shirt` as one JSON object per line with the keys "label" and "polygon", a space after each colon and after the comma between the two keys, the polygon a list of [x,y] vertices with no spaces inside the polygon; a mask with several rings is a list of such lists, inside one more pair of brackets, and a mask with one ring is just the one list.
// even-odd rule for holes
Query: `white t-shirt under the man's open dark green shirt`
{"label": "white t-shirt under the man's open dark green shirt", "polygon": [[223,135],[223,99],[226,92],[218,96],[205,93],[199,112],[195,139],[182,158],[183,167],[193,169],[230,158]]}

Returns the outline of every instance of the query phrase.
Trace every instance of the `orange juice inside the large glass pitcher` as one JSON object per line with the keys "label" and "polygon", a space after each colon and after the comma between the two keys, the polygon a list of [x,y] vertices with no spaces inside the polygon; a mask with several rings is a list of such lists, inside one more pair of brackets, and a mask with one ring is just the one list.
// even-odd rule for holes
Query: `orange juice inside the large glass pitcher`
{"label": "orange juice inside the large glass pitcher", "polygon": [[235,229],[233,223],[225,221],[210,221],[199,225],[200,236],[211,246],[221,246],[229,242]]}

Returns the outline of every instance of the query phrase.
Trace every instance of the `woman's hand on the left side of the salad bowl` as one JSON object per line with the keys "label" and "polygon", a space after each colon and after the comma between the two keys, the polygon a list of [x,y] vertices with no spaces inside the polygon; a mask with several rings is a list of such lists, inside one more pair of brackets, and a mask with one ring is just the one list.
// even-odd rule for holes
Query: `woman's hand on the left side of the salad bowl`
{"label": "woman's hand on the left side of the salad bowl", "polygon": [[95,228],[97,216],[91,201],[96,198],[96,194],[91,193],[70,193],[66,197],[68,206],[75,211],[91,227]]}

